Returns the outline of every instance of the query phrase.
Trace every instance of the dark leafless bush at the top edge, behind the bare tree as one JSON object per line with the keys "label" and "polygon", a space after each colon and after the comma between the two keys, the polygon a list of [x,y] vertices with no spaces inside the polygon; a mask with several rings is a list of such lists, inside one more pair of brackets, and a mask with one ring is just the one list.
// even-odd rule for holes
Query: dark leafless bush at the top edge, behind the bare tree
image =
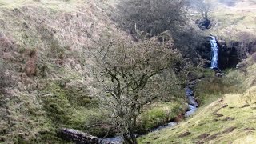
{"label": "dark leafless bush at the top edge, behind the bare tree", "polygon": [[114,19],[134,36],[138,31],[156,36],[166,30],[178,30],[184,24],[185,3],[184,0],[122,0]]}

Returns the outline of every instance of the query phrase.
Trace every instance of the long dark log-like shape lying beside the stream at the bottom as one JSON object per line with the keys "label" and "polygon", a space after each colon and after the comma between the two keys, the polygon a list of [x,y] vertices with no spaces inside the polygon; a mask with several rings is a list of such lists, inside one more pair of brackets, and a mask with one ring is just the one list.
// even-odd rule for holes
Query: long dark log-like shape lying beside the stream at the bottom
{"label": "long dark log-like shape lying beside the stream at the bottom", "polygon": [[58,137],[77,144],[99,144],[100,139],[90,134],[74,129],[62,128],[58,130]]}

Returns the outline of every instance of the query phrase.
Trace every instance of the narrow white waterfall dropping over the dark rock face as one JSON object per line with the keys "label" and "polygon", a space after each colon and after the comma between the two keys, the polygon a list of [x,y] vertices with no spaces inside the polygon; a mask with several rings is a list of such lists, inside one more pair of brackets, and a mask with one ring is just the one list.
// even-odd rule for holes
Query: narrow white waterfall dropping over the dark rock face
{"label": "narrow white waterfall dropping over the dark rock face", "polygon": [[210,45],[211,45],[211,69],[218,69],[218,44],[215,37],[210,37]]}

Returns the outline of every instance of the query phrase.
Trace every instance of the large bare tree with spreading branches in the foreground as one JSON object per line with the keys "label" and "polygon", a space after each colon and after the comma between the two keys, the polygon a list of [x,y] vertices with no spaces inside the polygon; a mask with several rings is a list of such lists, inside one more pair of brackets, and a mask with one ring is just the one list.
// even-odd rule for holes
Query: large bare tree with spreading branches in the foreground
{"label": "large bare tree with spreading branches in the foreground", "polygon": [[112,39],[95,58],[94,74],[102,86],[102,106],[110,111],[125,142],[136,144],[138,115],[143,106],[167,94],[168,86],[178,82],[174,67],[181,54],[165,35],[162,42],[158,38],[138,43]]}

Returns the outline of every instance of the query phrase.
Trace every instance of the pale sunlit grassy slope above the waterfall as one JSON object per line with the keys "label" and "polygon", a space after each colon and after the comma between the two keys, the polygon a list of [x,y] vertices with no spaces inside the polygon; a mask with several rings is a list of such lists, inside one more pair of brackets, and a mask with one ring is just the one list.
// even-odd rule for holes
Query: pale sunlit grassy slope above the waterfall
{"label": "pale sunlit grassy slope above the waterfall", "polygon": [[254,0],[237,1],[234,6],[223,3],[214,3],[214,10],[210,17],[214,19],[214,27],[210,34],[218,35],[229,40],[237,40],[239,32],[256,32],[256,3]]}

